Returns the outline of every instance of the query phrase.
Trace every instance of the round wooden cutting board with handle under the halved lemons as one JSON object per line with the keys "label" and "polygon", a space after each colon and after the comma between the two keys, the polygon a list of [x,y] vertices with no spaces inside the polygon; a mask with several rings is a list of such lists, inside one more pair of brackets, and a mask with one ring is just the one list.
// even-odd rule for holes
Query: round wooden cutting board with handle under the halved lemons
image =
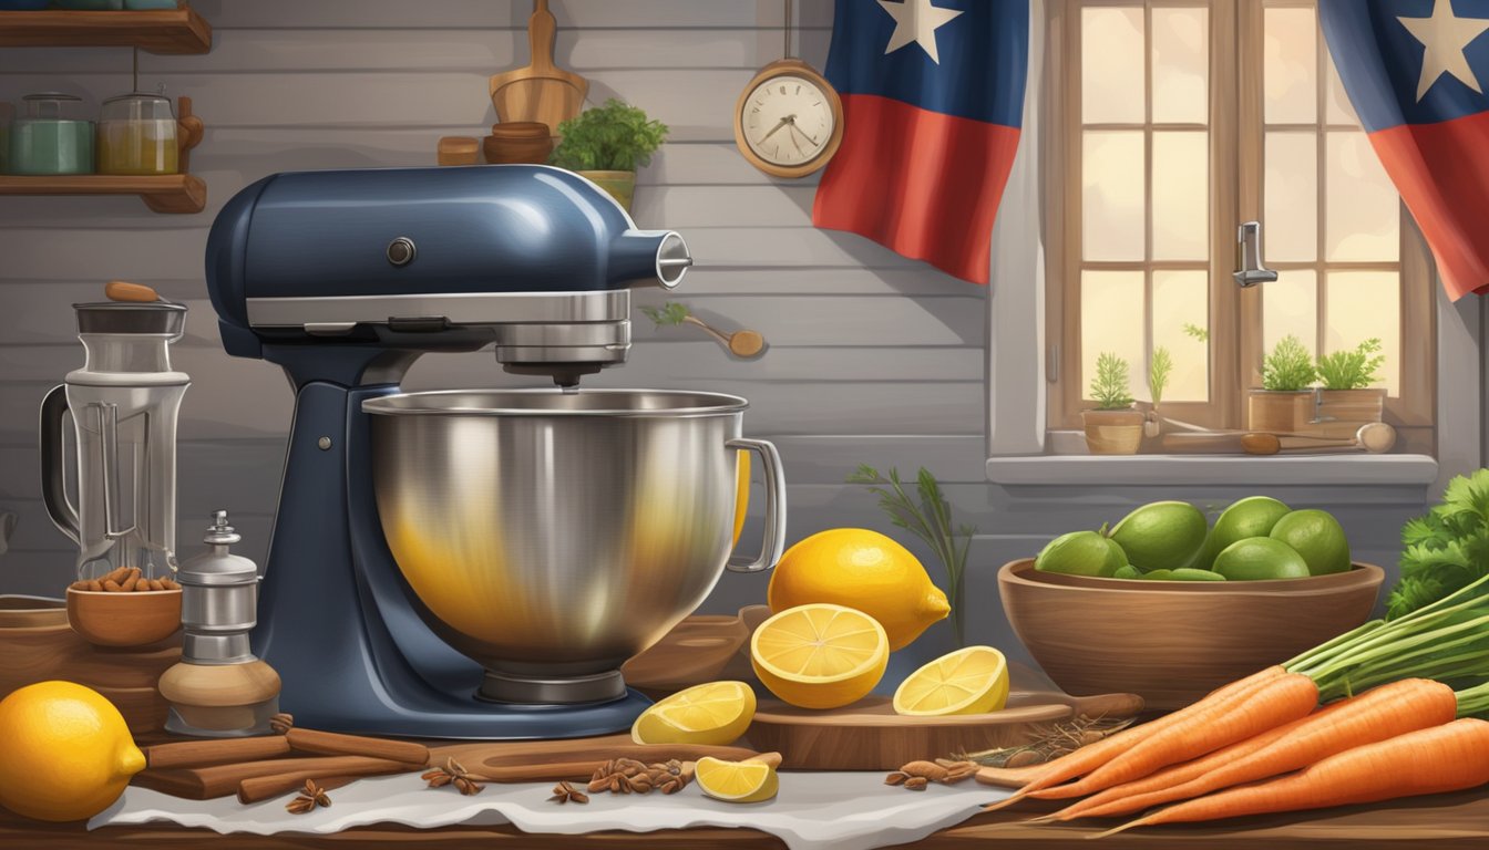
{"label": "round wooden cutting board with handle under the halved lemons", "polygon": [[916,759],[1024,744],[1041,725],[1077,715],[1132,718],[1142,709],[1136,694],[1071,697],[1057,691],[1014,691],[1002,712],[946,718],[896,715],[887,697],[823,712],[765,700],[746,737],[761,752],[779,752],[783,768],[898,770]]}

